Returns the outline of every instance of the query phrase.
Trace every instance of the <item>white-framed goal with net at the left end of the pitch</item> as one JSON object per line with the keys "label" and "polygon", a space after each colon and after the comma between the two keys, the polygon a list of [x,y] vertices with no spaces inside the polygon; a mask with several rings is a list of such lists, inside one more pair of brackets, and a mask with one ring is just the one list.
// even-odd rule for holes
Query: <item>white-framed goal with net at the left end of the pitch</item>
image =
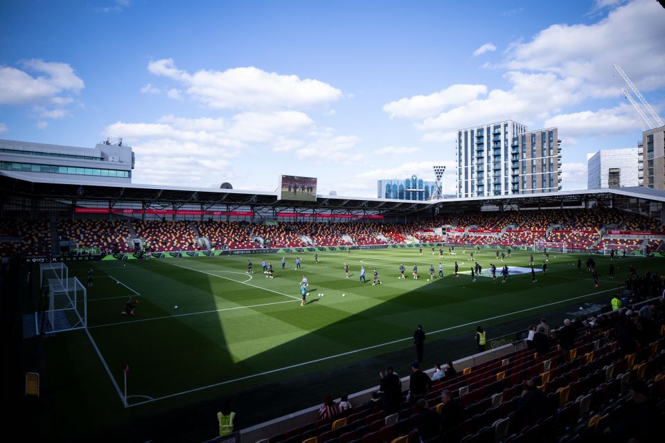
{"label": "white-framed goal with net at the left end of the pitch", "polygon": [[35,312],[37,334],[86,327],[87,292],[78,278],[69,278],[69,269],[63,263],[42,264],[39,275],[42,311]]}

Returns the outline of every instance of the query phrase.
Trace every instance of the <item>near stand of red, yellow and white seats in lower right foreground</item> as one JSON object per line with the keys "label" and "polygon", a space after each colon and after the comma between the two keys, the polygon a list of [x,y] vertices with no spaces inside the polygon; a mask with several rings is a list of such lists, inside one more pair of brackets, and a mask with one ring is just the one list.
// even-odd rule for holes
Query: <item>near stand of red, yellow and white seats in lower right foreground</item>
{"label": "near stand of red, yellow and white seats in lower right foreground", "polygon": [[[650,440],[659,433],[659,423],[617,430],[612,426],[634,408],[630,391],[644,382],[655,401],[665,400],[665,312],[659,307],[646,322],[625,311],[598,317],[593,325],[576,325],[571,350],[552,341],[547,354],[538,356],[521,349],[474,365],[453,379],[434,381],[427,404],[440,416],[441,427],[426,440],[418,429],[418,408],[404,391],[397,414],[389,415],[372,402],[345,410],[333,417],[317,419],[286,433],[273,435],[269,443],[400,443],[400,442],[576,442],[602,441],[614,437],[641,435]],[[640,325],[647,333],[644,345],[627,353],[616,337],[627,324]],[[637,326],[636,326],[637,327]],[[558,330],[553,331],[556,338]],[[527,410],[525,381],[533,381],[542,392],[544,413],[538,417]],[[405,379],[404,381],[407,381]],[[635,388],[638,389],[638,388]],[[461,422],[451,422],[440,402],[443,392],[452,392],[463,408]],[[445,397],[445,396],[444,396]],[[655,403],[654,403],[655,404]],[[657,410],[652,413],[659,417]],[[653,419],[653,417],[648,417]],[[619,441],[619,440],[617,440]],[[625,441],[625,440],[621,440]]]}

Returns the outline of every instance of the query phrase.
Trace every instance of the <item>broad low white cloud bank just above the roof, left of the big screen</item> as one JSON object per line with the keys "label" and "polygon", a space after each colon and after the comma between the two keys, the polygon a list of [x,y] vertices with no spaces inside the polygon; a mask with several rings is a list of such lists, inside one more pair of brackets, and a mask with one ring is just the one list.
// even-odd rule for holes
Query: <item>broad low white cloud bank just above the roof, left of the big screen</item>
{"label": "broad low white cloud bank just above the roof, left of the big screen", "polygon": [[[301,111],[247,111],[230,118],[179,118],[171,114],[152,123],[117,122],[104,136],[123,136],[136,152],[135,180],[172,183],[182,174],[186,186],[208,186],[211,177],[247,179],[246,170],[256,153],[295,152],[299,159],[348,163],[364,156],[352,152],[358,138],[319,130]],[[269,159],[267,156],[263,156]],[[242,159],[242,160],[241,160]],[[238,168],[236,162],[244,162]],[[196,174],[192,174],[196,171]],[[193,177],[196,176],[196,177]]]}

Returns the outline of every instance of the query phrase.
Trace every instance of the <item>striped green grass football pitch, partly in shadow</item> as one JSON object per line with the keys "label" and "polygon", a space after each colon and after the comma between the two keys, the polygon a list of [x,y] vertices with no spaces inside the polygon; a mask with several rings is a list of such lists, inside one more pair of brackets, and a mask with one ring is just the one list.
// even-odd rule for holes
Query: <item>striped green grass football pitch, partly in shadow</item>
{"label": "striped green grass football pitch, partly in shadow", "polygon": [[[596,288],[584,263],[581,273],[577,268],[578,257],[584,262],[588,255],[550,253],[548,273],[542,275],[544,255],[533,253],[538,282],[527,272],[511,273],[502,283],[502,262],[495,259],[495,250],[481,249],[475,261],[483,266],[483,275],[472,282],[475,262],[469,252],[458,247],[456,255],[448,255],[445,248],[440,259],[438,248],[434,254],[423,248],[422,255],[418,248],[319,251],[319,263],[314,253],[290,253],[284,269],[281,255],[274,254],[68,263],[69,275],[84,284],[91,266],[94,285],[87,289],[87,332],[65,332],[45,341],[51,395],[63,408],[79,411],[72,414],[68,409],[63,417],[103,414],[118,422],[129,417],[129,411],[135,418],[204,399],[238,396],[247,388],[389,352],[403,352],[400,363],[408,364],[414,358],[417,324],[428,334],[426,348],[447,336],[472,336],[479,324],[492,338],[492,326],[508,320],[524,318],[526,327],[550,309],[598,298],[609,302],[629,266],[638,273],[665,268],[660,258],[618,258],[617,278],[609,280],[610,258],[594,255],[600,274]],[[504,264],[530,271],[530,255],[513,252]],[[296,257],[301,257],[301,269],[295,269]],[[263,259],[272,262],[274,279],[263,273]],[[247,273],[247,260],[254,273]],[[454,276],[455,261],[459,277]],[[398,278],[400,263],[406,269],[404,280]],[[443,278],[438,278],[439,263]],[[486,276],[490,263],[497,266],[497,280]],[[411,278],[414,264],[418,280]],[[430,265],[434,280],[429,280]],[[366,283],[360,282],[361,266]],[[372,284],[374,269],[380,285]],[[310,292],[305,306],[299,291],[303,275]],[[139,301],[135,316],[121,315],[127,296]],[[435,362],[427,355],[425,360],[428,367]],[[366,387],[371,383],[367,380]],[[314,403],[294,403],[283,413]]]}

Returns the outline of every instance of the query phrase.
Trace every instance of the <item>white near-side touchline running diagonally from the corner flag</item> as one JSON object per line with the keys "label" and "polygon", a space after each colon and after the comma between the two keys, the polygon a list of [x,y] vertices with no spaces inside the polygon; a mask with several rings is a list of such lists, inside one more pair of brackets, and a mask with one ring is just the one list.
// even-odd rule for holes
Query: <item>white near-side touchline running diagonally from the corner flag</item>
{"label": "white near-side touchline running diagonally from the corner flag", "polygon": [[[178,265],[175,265],[175,266],[178,266]],[[181,267],[184,267],[184,266],[181,266]],[[496,320],[497,318],[503,318],[503,317],[512,316],[512,315],[515,315],[515,314],[521,314],[522,312],[532,311],[533,309],[541,309],[543,307],[559,305],[560,303],[570,302],[570,301],[573,301],[573,300],[579,300],[580,298],[586,298],[586,297],[590,297],[590,296],[596,296],[598,294],[609,292],[609,291],[614,291],[614,290],[615,289],[605,289],[603,291],[596,291],[596,292],[588,293],[588,294],[585,294],[583,296],[567,298],[566,300],[559,300],[559,301],[556,301],[556,302],[547,303],[545,305],[533,306],[533,307],[529,307],[529,308],[526,308],[526,309],[521,309],[520,311],[509,312],[508,314],[501,314],[501,315],[498,315],[498,316],[483,318],[481,320],[475,320],[475,321],[472,321],[472,322],[469,322],[469,323],[464,323],[462,325],[455,325],[455,326],[451,326],[451,327],[445,327],[443,329],[438,329],[436,331],[428,332],[427,335],[433,335],[433,334],[438,334],[438,333],[441,333],[441,332],[447,332],[447,331],[451,331],[452,329],[458,329],[460,327],[465,327],[465,326],[470,326],[470,325],[477,325],[477,324],[480,324],[480,323],[486,323],[490,320]],[[274,374],[275,372],[282,372],[282,371],[290,370],[290,369],[293,369],[293,368],[299,368],[300,366],[310,365],[310,364],[313,364],[313,363],[319,363],[320,361],[336,359],[338,357],[347,356],[347,355],[351,355],[351,354],[357,354],[358,352],[364,352],[364,351],[367,351],[367,350],[375,349],[377,347],[393,345],[395,343],[400,343],[402,341],[408,341],[408,340],[412,340],[412,339],[413,339],[413,337],[398,338],[397,340],[388,341],[386,343],[380,343],[378,345],[371,345],[371,346],[363,347],[361,349],[351,350],[351,351],[348,351],[348,352],[342,352],[341,354],[325,356],[325,357],[321,357],[320,359],[315,359],[315,360],[311,360],[311,361],[303,361],[303,363],[296,363],[294,365],[285,366],[284,368],[276,368],[276,369],[272,369],[272,370],[269,370],[269,371],[260,372],[258,374],[251,374],[251,375],[246,375],[245,377],[238,377],[237,379],[220,381],[219,383],[213,383],[213,384],[210,384],[208,386],[201,386],[200,388],[194,388],[194,389],[184,390],[182,392],[175,392],[174,394],[163,395],[162,397],[157,397],[157,398],[154,398],[154,399],[151,399],[151,400],[146,400],[146,401],[140,401],[139,403],[131,404],[131,405],[128,405],[127,407],[141,406],[143,404],[152,403],[153,401],[169,399],[169,398],[172,398],[172,397],[179,397],[180,395],[186,395],[186,394],[190,394],[192,392],[199,392],[199,391],[202,391],[202,390],[215,388],[217,386],[224,386],[224,385],[227,385],[229,383],[235,383],[236,381],[243,381],[243,380],[247,380],[247,379],[253,379],[253,378],[256,378],[256,377],[263,377],[263,376],[268,375],[268,374]]]}

